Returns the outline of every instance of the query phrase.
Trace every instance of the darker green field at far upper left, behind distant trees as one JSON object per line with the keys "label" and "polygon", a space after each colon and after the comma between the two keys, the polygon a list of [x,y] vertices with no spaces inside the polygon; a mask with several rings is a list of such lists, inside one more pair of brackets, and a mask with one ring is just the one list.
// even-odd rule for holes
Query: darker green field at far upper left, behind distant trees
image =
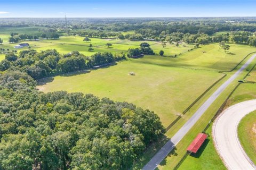
{"label": "darker green field at far upper left, behind distant trees", "polygon": [[45,27],[2,27],[0,28],[0,38],[4,42],[8,42],[11,32],[18,32],[19,34],[26,33],[28,35],[38,35],[43,33]]}

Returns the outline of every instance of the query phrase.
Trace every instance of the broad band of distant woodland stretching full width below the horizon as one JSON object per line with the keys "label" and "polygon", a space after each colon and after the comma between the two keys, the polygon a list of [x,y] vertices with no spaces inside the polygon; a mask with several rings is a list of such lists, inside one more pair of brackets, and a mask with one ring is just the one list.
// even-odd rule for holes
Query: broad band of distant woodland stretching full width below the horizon
{"label": "broad band of distant woodland stretching full width below the horizon", "polygon": [[[2,28],[38,27],[38,33],[11,32],[10,43],[38,38],[56,39],[61,35],[129,40],[185,41],[207,44],[233,42],[256,46],[255,18],[68,18],[0,19]],[[125,33],[125,31],[130,31]],[[226,31],[214,35],[217,32]],[[1,37],[0,37],[1,38]],[[0,42],[1,43],[1,42]]]}

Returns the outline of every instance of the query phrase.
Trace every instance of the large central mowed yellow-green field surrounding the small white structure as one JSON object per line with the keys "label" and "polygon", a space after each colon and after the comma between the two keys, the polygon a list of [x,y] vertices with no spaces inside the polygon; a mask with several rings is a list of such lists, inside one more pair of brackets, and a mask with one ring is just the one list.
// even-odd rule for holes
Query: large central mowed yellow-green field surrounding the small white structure
{"label": "large central mowed yellow-green field surrounding the small white structure", "polygon": [[[44,92],[84,92],[100,98],[134,103],[156,112],[167,126],[222,74],[143,62],[158,61],[158,58],[145,56],[128,59],[98,70],[45,78],[38,81],[37,88]],[[162,62],[165,63],[165,60]],[[130,71],[136,75],[129,75]]]}

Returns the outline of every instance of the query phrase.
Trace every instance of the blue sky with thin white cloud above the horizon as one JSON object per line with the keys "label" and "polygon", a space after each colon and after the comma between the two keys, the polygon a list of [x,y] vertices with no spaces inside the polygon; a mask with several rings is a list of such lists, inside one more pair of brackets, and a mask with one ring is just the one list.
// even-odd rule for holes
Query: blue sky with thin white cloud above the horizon
{"label": "blue sky with thin white cloud above the horizon", "polygon": [[256,16],[256,0],[0,0],[0,18]]}

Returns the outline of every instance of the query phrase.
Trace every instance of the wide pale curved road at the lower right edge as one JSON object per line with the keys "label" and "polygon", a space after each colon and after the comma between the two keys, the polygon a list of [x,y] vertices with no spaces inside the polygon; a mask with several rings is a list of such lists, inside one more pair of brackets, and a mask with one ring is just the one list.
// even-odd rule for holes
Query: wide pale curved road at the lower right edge
{"label": "wide pale curved road at the lower right edge", "polygon": [[245,154],[237,135],[242,118],[256,110],[256,100],[248,100],[227,108],[213,124],[214,146],[228,169],[256,169]]}

